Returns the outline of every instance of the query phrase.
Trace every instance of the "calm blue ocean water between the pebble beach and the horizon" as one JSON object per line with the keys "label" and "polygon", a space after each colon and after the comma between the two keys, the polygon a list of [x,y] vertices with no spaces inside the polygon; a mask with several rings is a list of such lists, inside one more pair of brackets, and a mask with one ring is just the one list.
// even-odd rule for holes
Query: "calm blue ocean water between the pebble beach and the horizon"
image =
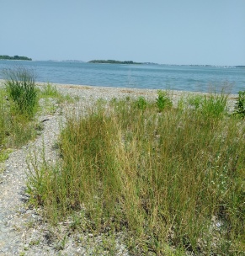
{"label": "calm blue ocean water between the pebble beach and the horizon", "polygon": [[36,81],[120,88],[174,89],[231,93],[245,90],[244,67],[94,64],[74,61],[0,61],[1,70],[27,67]]}

